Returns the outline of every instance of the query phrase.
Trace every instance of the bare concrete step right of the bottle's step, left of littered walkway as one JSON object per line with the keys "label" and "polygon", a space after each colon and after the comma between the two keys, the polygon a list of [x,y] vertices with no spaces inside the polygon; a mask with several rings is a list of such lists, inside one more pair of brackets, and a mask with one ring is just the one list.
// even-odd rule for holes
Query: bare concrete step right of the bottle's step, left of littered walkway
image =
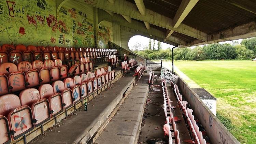
{"label": "bare concrete step right of the bottle's step, left of littered walkway", "polygon": [[96,144],[137,144],[148,93],[148,75],[140,78]]}

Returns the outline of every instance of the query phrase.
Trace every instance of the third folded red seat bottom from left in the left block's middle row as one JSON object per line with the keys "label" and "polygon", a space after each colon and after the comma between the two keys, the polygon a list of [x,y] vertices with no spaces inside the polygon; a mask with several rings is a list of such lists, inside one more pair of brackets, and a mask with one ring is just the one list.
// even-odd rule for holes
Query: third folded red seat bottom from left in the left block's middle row
{"label": "third folded red seat bottom from left in the left block's middle row", "polygon": [[41,80],[39,71],[37,69],[27,71],[26,79],[27,83],[29,84],[28,88],[39,86]]}

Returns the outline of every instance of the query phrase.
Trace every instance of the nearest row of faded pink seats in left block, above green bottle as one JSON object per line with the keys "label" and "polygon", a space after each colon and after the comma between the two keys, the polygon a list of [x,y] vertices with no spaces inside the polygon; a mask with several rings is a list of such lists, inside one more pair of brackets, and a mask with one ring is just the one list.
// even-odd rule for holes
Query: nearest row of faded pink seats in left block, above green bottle
{"label": "nearest row of faded pink seats in left block, above green bottle", "polygon": [[[96,76],[95,76],[96,75]],[[114,71],[104,68],[67,77],[62,81],[27,88],[19,96],[0,96],[0,144],[17,140],[35,127],[74,106],[90,93],[115,78]]]}

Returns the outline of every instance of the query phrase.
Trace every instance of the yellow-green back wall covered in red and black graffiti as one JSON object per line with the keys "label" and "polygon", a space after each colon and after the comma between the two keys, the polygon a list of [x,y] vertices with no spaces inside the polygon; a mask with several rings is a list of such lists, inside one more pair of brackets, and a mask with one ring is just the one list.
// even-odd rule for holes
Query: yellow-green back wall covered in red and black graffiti
{"label": "yellow-green back wall covered in red and black graffiti", "polygon": [[65,2],[58,17],[56,0],[0,1],[0,45],[108,47],[112,23],[94,23],[93,6],[76,1]]}

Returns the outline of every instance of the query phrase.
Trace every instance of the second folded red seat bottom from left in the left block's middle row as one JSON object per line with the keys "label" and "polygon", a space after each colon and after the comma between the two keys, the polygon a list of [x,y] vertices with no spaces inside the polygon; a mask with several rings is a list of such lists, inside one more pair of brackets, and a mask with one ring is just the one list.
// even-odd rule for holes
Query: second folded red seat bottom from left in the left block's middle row
{"label": "second folded red seat bottom from left in the left block's middle row", "polygon": [[22,71],[16,71],[9,74],[10,91],[16,92],[26,88],[26,76]]}

